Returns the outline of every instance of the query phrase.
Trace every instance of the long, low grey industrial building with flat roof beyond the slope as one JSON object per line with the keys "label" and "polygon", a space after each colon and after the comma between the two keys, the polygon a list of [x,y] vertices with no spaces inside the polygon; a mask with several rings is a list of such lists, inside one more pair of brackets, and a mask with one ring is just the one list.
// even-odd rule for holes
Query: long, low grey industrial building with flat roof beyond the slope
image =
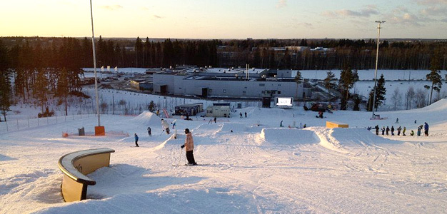
{"label": "long, low grey industrial building with flat roof beyond the slope", "polygon": [[259,68],[187,68],[154,73],[154,93],[175,96],[262,98],[276,96],[303,98],[303,83],[297,84],[291,70]]}

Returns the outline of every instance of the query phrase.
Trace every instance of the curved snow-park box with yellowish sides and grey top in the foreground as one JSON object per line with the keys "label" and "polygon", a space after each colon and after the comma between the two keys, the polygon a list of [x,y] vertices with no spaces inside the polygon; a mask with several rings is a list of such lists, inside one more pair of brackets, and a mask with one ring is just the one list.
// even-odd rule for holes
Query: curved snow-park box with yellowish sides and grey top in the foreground
{"label": "curved snow-park box with yellowish sides and grey top in the foreground", "polygon": [[87,186],[96,181],[86,175],[101,167],[109,167],[110,148],[96,148],[68,153],[59,158],[59,168],[64,173],[61,192],[64,201],[71,202],[86,199]]}

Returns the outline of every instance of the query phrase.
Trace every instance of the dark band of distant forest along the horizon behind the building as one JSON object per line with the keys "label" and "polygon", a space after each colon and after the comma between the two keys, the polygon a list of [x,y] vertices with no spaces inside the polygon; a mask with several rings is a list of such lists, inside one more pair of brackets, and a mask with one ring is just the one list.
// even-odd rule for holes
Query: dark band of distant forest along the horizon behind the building
{"label": "dark band of distant forest along the horizon behind the building", "polygon": [[[91,38],[1,37],[9,67],[93,67]],[[273,47],[308,46],[304,51]],[[428,69],[435,51],[441,69],[447,66],[447,41],[381,41],[379,69]],[[311,51],[323,47],[326,51]],[[3,56],[0,56],[3,57]],[[376,40],[351,39],[96,39],[97,66],[159,68],[176,65],[251,67],[272,69],[373,69]]]}

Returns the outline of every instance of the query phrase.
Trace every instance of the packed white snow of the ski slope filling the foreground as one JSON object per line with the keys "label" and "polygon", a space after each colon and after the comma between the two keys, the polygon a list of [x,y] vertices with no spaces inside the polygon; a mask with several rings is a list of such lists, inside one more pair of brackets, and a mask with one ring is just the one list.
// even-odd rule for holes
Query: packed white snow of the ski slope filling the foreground
{"label": "packed white snow of the ski slope filling the foreground", "polygon": [[[92,133],[96,117],[2,133],[0,213],[445,213],[447,100],[380,114],[388,119],[250,107],[211,124],[165,118],[177,120],[174,138],[146,111],[101,116],[108,133],[101,137],[62,137],[83,126]],[[326,128],[326,121],[350,128]],[[423,122],[429,136],[409,136]],[[406,126],[406,136],[365,128],[376,125]],[[193,134],[199,165],[184,165],[184,128]],[[134,133],[140,148],[131,147]],[[64,203],[57,161],[89,148],[114,149],[111,167],[88,175],[96,185],[87,200]]]}

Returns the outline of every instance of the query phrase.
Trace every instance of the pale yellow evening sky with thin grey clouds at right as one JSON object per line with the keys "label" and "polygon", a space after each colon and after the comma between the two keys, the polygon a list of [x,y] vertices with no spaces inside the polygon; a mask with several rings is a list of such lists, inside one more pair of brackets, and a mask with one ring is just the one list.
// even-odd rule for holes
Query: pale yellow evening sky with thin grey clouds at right
{"label": "pale yellow evening sky with thin grey clouds at right", "polygon": [[[95,36],[447,39],[447,0],[92,0]],[[0,36],[91,36],[90,2],[0,3]]]}

